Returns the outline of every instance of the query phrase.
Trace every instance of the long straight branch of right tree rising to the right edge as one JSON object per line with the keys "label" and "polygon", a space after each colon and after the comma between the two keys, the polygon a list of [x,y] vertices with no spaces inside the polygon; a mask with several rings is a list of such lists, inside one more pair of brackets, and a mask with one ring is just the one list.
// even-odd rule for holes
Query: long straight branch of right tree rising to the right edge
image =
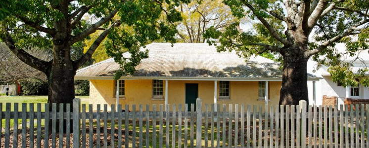
{"label": "long straight branch of right tree rising to the right edge", "polygon": [[343,32],[342,34],[337,35],[337,36],[335,36],[335,37],[332,37],[332,38],[330,38],[330,39],[326,40],[326,41],[325,41],[325,42],[323,42],[320,46],[318,46],[318,48],[316,48],[316,49],[314,49],[314,50],[311,50],[311,51],[308,53],[308,55],[309,55],[309,56],[312,56],[312,55],[314,55],[314,54],[317,54],[317,53],[319,53],[319,52],[323,51],[323,49],[325,49],[325,48],[326,48],[327,46],[329,46],[331,43],[333,43],[333,42],[335,42],[335,41],[340,40],[342,37],[346,37],[346,36],[351,35],[351,33],[352,33],[353,31],[355,31],[355,28],[357,28],[358,26],[361,26],[361,25],[363,25],[363,24],[366,24],[366,23],[368,23],[368,22],[369,22],[369,20],[363,20],[363,21],[361,21],[361,22],[359,22],[359,23],[357,23],[357,24],[355,24],[355,25],[351,26],[349,29],[347,29],[347,30],[346,30],[345,32]]}

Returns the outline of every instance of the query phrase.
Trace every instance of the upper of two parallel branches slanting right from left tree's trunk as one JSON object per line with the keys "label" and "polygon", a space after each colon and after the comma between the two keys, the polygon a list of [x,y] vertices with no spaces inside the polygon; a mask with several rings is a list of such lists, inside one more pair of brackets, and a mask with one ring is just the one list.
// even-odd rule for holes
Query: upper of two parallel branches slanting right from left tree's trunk
{"label": "upper of two parallel branches slanting right from left tree's trunk", "polygon": [[110,12],[110,14],[104,18],[101,18],[101,20],[99,20],[98,22],[96,22],[95,24],[92,24],[92,26],[88,29],[86,29],[84,32],[82,32],[79,35],[76,35],[74,37],[71,38],[70,40],[70,44],[73,44],[89,35],[91,35],[92,33],[94,33],[101,25],[105,24],[106,22],[108,22],[111,18],[113,18],[115,16],[115,14],[118,12],[118,9],[113,10],[112,12]]}

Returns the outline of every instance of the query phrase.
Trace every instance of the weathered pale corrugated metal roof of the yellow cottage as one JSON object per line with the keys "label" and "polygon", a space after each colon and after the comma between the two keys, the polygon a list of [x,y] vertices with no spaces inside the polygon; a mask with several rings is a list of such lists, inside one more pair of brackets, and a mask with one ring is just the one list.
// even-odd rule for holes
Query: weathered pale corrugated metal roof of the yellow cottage
{"label": "weathered pale corrugated metal roof of the yellow cottage", "polygon": [[[282,71],[273,60],[252,56],[247,61],[235,52],[217,52],[216,46],[207,43],[151,43],[141,50],[149,50],[133,75],[147,78],[228,78],[228,79],[281,79]],[[124,53],[123,56],[130,56]],[[80,69],[76,79],[112,77],[119,65],[113,58]],[[308,74],[309,78],[317,78]]]}

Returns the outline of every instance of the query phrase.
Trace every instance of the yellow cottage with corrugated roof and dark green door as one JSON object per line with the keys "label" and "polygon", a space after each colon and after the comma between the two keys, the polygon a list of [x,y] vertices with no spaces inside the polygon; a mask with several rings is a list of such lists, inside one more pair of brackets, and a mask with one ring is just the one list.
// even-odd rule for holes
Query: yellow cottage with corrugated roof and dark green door
{"label": "yellow cottage with corrugated roof and dark green door", "polygon": [[[90,104],[152,105],[195,103],[277,105],[282,71],[273,60],[236,52],[217,52],[207,43],[151,43],[133,75],[113,79],[119,65],[113,58],[77,71],[75,79],[90,80]],[[123,54],[129,57],[129,53]],[[318,77],[308,74],[311,81]],[[118,91],[116,88],[119,87]],[[118,96],[118,97],[117,97]],[[189,106],[189,105],[188,105]],[[145,108],[145,107],[144,107]]]}

